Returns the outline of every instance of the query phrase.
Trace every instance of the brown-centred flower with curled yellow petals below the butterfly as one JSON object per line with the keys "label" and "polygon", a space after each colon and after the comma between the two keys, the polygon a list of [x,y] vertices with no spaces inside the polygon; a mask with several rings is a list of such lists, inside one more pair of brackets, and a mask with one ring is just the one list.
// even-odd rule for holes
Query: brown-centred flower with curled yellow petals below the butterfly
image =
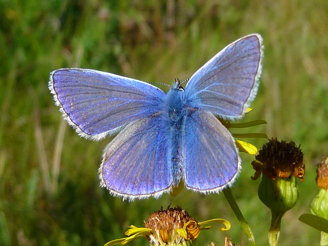
{"label": "brown-centred flower with curled yellow petals below the butterfly", "polygon": [[230,223],[225,219],[197,222],[181,207],[173,209],[169,206],[166,210],[161,208],[152,213],[145,222],[145,228],[130,226],[125,232],[128,237],[110,241],[105,246],[125,245],[140,237],[146,237],[151,246],[187,246],[197,239],[200,231],[212,228],[212,226],[204,226],[208,223],[224,224],[226,228],[221,228],[222,231],[230,229]]}

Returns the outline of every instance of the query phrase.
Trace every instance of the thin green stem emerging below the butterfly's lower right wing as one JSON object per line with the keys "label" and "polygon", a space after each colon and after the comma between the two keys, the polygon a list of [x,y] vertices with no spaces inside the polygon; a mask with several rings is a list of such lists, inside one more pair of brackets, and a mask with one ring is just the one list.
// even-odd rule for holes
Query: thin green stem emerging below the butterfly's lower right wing
{"label": "thin green stem emerging below the butterfly's lower right wing", "polygon": [[223,190],[223,194],[226,197],[226,199],[228,200],[230,207],[234,211],[237,219],[239,220],[241,228],[244,231],[244,233],[246,234],[246,236],[248,237],[248,240],[250,241],[251,245],[257,246],[252,229],[250,228],[249,224],[247,223],[244,216],[242,215],[242,213],[237,205],[237,202],[232,195],[231,189],[229,187],[227,187],[226,189]]}

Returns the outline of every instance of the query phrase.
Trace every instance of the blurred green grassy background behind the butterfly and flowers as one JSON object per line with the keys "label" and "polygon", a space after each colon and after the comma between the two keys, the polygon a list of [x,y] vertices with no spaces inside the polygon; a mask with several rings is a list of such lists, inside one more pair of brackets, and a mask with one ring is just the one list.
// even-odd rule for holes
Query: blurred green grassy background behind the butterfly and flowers
{"label": "blurred green grassy background behind the butterfly and flowers", "polygon": [[[0,1],[0,244],[103,245],[142,227],[161,206],[181,205],[231,230],[201,232],[195,243],[249,245],[223,194],[183,190],[177,197],[122,201],[99,187],[97,170],[110,138],[80,138],[61,119],[49,73],[90,68],[172,85],[189,78],[224,46],[250,33],[264,39],[247,132],[301,144],[306,165],[300,199],[282,219],[280,245],[318,245],[320,233],[298,221],[318,188],[315,165],[328,155],[328,1]],[[167,87],[162,89],[168,90]],[[248,139],[258,148],[265,139]],[[254,157],[232,192],[259,245],[268,245],[270,211],[257,197]],[[129,243],[148,245],[146,239]]]}

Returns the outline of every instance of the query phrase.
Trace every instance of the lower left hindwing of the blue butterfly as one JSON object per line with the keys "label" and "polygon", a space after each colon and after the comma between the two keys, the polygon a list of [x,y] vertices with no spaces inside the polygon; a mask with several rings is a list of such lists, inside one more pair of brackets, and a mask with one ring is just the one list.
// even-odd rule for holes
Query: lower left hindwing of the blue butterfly
{"label": "lower left hindwing of the blue butterfly", "polygon": [[167,128],[160,114],[127,125],[107,146],[100,185],[123,199],[159,197],[172,185]]}

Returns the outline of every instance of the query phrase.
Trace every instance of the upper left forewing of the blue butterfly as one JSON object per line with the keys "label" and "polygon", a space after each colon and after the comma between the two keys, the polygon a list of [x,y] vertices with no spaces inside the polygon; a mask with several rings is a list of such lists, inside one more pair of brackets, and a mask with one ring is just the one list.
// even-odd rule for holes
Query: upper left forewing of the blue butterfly
{"label": "upper left forewing of the blue butterfly", "polygon": [[87,69],[53,71],[49,89],[69,124],[93,140],[158,112],[166,95],[136,79]]}

